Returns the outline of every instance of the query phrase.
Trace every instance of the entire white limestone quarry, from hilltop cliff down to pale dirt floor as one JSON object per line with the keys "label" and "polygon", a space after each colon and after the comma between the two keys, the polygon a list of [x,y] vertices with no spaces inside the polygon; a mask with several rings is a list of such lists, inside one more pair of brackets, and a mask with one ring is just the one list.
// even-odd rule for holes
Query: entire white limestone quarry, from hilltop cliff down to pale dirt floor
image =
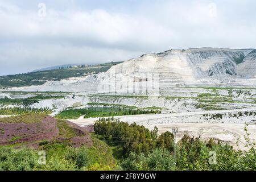
{"label": "entire white limestone quarry, from hilltop cliff down to pale dirt floor", "polygon": [[[154,109],[161,114],[116,116],[163,132],[202,135],[236,145],[249,123],[256,139],[256,50],[192,48],[149,53],[113,65],[108,71],[47,81],[43,85],[5,88],[0,98],[29,98],[38,93],[64,95],[30,107],[48,107],[52,116],[89,105]],[[53,93],[52,93],[53,94]],[[16,105],[0,105],[15,107]],[[80,126],[98,118],[69,119]],[[180,134],[181,136],[181,134]]]}

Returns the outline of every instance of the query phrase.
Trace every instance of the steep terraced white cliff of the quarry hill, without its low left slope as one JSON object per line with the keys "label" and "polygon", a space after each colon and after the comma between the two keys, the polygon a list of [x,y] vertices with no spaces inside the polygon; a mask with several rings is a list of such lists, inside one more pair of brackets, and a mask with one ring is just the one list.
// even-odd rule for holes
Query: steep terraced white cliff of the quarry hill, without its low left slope
{"label": "steep terraced white cliff of the quarry hill, without its low left slope", "polygon": [[125,91],[127,85],[150,90],[141,85],[155,76],[161,91],[188,85],[254,86],[255,80],[245,80],[256,75],[254,52],[254,49],[196,48],[152,53],[115,65],[98,81],[110,83],[115,92]]}

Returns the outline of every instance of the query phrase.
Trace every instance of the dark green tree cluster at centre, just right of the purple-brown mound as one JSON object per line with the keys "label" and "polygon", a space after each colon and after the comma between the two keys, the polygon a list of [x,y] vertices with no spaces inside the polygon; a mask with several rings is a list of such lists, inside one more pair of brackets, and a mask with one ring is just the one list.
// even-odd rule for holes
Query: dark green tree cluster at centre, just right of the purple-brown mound
{"label": "dark green tree cluster at centre, just right of the purple-brown mound", "polygon": [[101,118],[94,124],[94,131],[105,140],[121,146],[123,156],[127,157],[130,152],[148,154],[158,147],[173,152],[174,135],[169,131],[158,136],[156,127],[150,131],[136,123],[129,125],[125,122],[112,122],[113,120],[113,118]]}

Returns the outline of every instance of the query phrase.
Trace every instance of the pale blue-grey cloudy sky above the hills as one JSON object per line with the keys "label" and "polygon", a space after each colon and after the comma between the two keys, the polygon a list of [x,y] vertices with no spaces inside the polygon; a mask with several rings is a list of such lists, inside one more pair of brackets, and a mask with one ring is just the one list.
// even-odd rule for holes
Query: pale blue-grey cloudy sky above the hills
{"label": "pale blue-grey cloudy sky above the hills", "polygon": [[256,1],[0,0],[0,75],[192,47],[256,48]]}

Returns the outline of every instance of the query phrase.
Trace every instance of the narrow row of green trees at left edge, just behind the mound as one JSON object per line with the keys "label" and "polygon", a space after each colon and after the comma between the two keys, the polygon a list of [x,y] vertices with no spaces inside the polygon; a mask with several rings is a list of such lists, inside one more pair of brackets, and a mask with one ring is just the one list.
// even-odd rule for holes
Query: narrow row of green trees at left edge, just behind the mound
{"label": "narrow row of green trees at left edge, just behind the mound", "polygon": [[46,113],[51,114],[52,110],[48,107],[32,108],[32,107],[6,107],[0,109],[0,115],[20,115],[28,113]]}

